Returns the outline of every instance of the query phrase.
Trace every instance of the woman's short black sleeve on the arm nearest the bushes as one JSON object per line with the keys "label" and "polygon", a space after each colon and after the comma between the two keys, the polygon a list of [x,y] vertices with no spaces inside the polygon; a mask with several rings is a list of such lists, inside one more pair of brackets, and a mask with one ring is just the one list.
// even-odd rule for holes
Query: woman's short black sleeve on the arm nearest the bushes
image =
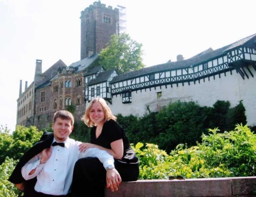
{"label": "woman's short black sleeve on the arm nearest the bushes", "polygon": [[123,129],[116,121],[110,119],[107,122],[107,127],[108,138],[110,143],[123,138]]}

